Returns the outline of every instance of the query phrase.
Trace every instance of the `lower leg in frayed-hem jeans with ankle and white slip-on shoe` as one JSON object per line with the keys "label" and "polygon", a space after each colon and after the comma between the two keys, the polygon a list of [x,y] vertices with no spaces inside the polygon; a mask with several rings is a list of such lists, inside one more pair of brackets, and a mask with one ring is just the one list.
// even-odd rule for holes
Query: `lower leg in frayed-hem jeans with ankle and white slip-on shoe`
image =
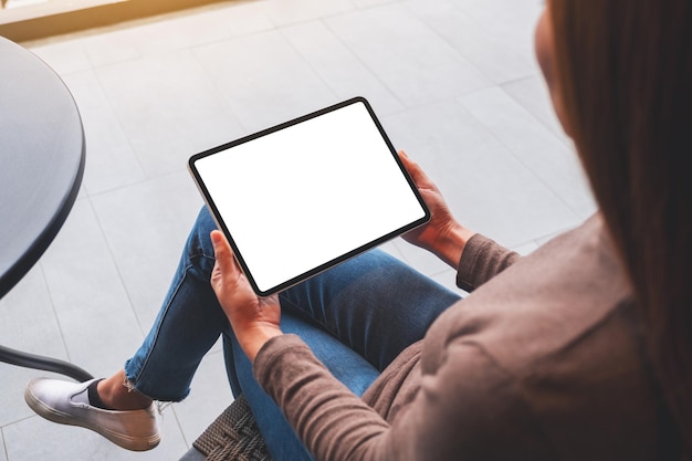
{"label": "lower leg in frayed-hem jeans with ankle and white slip-on shoe", "polygon": [[[126,449],[156,447],[160,439],[151,398],[185,398],[200,360],[228,325],[209,284],[213,268],[209,232],[214,227],[202,210],[166,302],[124,370],[101,383],[34,379],[24,391],[27,404],[51,421],[94,430]],[[136,392],[123,386],[125,377]]]}

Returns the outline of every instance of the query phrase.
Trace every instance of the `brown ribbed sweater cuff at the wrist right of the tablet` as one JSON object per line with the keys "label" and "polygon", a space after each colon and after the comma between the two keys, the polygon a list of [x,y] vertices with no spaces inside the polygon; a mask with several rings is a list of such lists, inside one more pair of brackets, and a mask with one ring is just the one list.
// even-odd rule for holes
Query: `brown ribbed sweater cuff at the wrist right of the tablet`
{"label": "brown ribbed sweater cuff at the wrist right of the tablet", "polygon": [[472,292],[518,259],[517,253],[476,233],[469,239],[461,254],[457,270],[457,286]]}

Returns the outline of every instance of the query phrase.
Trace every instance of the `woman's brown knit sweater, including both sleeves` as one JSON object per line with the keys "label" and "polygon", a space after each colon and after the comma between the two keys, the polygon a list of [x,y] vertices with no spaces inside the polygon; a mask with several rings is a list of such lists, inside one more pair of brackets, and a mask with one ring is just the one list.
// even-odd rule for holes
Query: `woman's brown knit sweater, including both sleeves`
{"label": "woman's brown knit sweater, including both sleeves", "polygon": [[442,314],[363,398],[294,335],[254,373],[315,459],[652,460],[659,397],[599,216],[518,258],[475,235]]}

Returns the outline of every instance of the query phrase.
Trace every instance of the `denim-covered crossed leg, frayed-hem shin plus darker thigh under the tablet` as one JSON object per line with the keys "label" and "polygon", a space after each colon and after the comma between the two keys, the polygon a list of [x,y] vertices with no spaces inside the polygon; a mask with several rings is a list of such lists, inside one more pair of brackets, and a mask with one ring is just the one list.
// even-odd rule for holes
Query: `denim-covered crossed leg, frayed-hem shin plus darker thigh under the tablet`
{"label": "denim-covered crossed leg, frayed-hem shin plus darker thigh under the tablet", "polygon": [[[203,355],[228,327],[209,284],[216,229],[205,207],[197,219],[159,315],[125,366],[129,383],[157,400],[178,401]],[[281,294],[287,313],[308,319],[384,369],[423,337],[459,296],[381,251],[340,264]],[[229,371],[231,386],[238,379]]]}

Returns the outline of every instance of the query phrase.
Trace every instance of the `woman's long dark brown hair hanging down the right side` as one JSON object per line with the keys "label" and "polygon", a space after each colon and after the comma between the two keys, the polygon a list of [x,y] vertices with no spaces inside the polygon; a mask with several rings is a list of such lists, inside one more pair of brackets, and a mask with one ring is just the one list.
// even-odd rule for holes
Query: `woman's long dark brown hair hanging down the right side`
{"label": "woman's long dark brown hair hanging down the right side", "polygon": [[549,0],[549,9],[569,130],[690,459],[692,1]]}

